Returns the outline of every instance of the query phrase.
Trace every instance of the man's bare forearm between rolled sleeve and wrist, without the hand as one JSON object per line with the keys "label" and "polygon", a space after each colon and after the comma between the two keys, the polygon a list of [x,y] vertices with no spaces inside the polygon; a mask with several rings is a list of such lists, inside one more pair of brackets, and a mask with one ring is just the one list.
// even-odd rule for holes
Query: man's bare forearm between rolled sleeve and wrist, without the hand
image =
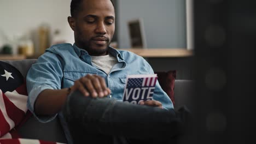
{"label": "man's bare forearm between rolled sleeve and wrist, without the hand", "polygon": [[61,110],[68,95],[68,88],[45,89],[41,92],[34,103],[36,115],[54,115]]}

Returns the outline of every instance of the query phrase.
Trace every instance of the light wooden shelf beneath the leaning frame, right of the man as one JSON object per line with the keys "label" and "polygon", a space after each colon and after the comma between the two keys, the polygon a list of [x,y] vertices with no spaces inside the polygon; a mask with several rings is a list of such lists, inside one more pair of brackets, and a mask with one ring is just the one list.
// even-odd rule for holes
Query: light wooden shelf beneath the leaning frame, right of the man
{"label": "light wooden shelf beneath the leaning frame, right of the man", "polygon": [[136,53],[142,57],[190,57],[193,56],[192,50],[187,49],[118,49]]}

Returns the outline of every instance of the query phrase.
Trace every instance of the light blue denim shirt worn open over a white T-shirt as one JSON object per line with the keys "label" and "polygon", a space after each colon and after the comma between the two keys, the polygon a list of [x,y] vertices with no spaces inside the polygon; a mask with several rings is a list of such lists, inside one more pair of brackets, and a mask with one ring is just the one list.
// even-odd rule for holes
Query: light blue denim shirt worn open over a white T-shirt
{"label": "light blue denim shirt worn open over a white T-shirt", "polygon": [[[126,76],[132,74],[154,74],[148,62],[141,56],[129,51],[121,51],[108,47],[110,55],[117,58],[118,63],[113,66],[109,74],[98,69],[91,62],[91,56],[87,51],[79,49],[75,44],[57,44],[46,49],[45,53],[37,59],[27,73],[28,109],[40,122],[49,122],[56,117],[42,117],[34,114],[34,102],[44,89],[61,89],[74,85],[74,81],[87,74],[102,76],[111,94],[110,99],[123,100]],[[173,109],[173,104],[168,95],[162,90],[159,82],[156,82],[154,100],[162,103],[165,109]],[[60,113],[60,120],[65,130],[68,142],[71,142],[67,125]]]}

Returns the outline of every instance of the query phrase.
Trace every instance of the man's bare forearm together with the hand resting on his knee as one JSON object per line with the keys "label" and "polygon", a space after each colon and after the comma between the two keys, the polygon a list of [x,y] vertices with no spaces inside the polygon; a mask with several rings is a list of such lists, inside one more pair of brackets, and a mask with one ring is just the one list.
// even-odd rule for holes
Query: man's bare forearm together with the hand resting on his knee
{"label": "man's bare forearm together with the hand resting on his knee", "polygon": [[62,105],[65,104],[69,92],[79,90],[85,97],[106,97],[111,93],[106,86],[105,80],[97,75],[86,75],[74,82],[74,85],[63,89],[45,89],[42,91],[35,103],[34,112],[36,115],[54,115],[61,110]]}

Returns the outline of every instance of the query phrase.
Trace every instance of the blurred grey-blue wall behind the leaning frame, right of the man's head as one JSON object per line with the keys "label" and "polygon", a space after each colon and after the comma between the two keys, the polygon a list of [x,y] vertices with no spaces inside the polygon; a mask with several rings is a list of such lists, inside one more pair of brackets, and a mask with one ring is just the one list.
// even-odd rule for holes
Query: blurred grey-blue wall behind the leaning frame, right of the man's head
{"label": "blurred grey-blue wall behind the leaning frame, right of the man's head", "polygon": [[141,17],[148,48],[186,48],[184,0],[118,0],[118,42],[129,48],[127,21]]}

